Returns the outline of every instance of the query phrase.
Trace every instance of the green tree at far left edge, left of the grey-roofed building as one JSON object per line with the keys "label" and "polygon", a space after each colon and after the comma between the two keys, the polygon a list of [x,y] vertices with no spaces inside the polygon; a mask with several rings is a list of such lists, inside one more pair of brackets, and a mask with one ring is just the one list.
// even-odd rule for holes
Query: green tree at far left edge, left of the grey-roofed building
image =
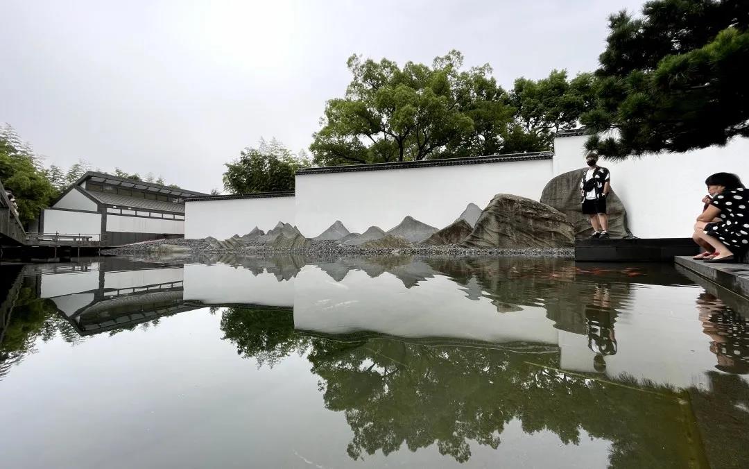
{"label": "green tree at far left edge, left of the grey-roofed building", "polygon": [[0,181],[16,198],[19,220],[28,225],[56,195],[55,187],[27,148],[15,148],[0,137]]}

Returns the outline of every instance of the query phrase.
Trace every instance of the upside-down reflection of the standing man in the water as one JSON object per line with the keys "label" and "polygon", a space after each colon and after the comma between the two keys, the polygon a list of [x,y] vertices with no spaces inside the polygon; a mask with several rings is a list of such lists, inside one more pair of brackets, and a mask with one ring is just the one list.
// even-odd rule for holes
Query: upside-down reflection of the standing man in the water
{"label": "upside-down reflection of the standing man in the water", "polygon": [[607,355],[616,354],[616,336],[613,324],[616,311],[611,307],[610,288],[596,284],[592,301],[585,306],[585,322],[588,330],[588,348],[595,352],[593,368],[597,372],[606,369]]}

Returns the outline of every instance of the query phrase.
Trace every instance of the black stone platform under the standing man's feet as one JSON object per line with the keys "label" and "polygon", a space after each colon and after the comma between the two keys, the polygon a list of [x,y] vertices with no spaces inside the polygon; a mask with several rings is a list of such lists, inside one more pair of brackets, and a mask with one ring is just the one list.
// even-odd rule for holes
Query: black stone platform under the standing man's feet
{"label": "black stone platform under the standing man's feet", "polygon": [[688,237],[575,240],[574,260],[593,262],[673,262],[677,255],[697,254]]}

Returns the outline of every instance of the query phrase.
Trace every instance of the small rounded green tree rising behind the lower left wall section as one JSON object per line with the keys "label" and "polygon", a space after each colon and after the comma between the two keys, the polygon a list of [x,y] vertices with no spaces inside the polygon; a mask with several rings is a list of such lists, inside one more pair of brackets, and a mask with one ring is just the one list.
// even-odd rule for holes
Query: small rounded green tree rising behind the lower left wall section
{"label": "small rounded green tree rising behind the lower left wall section", "polygon": [[260,139],[258,148],[245,148],[240,157],[226,163],[224,187],[231,194],[294,190],[294,174],[309,167],[304,155],[294,156],[276,139]]}

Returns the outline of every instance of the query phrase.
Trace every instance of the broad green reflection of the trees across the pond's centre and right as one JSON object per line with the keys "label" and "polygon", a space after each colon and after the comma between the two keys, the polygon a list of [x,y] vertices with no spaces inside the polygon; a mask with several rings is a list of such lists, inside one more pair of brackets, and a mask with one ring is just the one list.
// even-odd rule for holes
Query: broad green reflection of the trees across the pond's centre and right
{"label": "broad green reflection of the trees across the pond's centre and right", "polygon": [[326,407],[344,412],[354,432],[353,459],[436,444],[466,462],[471,442],[497,448],[515,419],[524,432],[549,430],[565,444],[578,444],[582,429],[609,440],[613,468],[682,467],[689,453],[676,395],[565,374],[557,351],[339,342],[295,331],[291,311],[277,309],[228,308],[221,324],[237,352],[261,365],[309,352]]}

